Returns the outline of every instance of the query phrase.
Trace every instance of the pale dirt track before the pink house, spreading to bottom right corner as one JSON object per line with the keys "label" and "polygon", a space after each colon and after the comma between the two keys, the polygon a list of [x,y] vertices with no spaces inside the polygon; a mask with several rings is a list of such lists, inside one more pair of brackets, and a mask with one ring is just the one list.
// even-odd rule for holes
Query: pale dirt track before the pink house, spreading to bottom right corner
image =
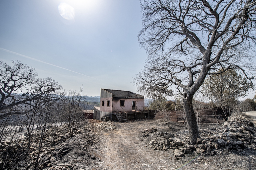
{"label": "pale dirt track before the pink house, spreading to bottom right corner", "polygon": [[[153,150],[149,146],[149,141],[141,138],[140,130],[146,128],[157,128],[157,131],[173,132],[182,129],[172,125],[173,129],[166,125],[159,125],[154,120],[135,121],[130,123],[114,123],[119,130],[104,132],[104,149],[101,150],[103,156],[102,167],[104,170],[181,170],[181,169],[249,169],[256,168],[255,153],[223,153],[215,156],[203,156],[192,154],[175,159],[173,150],[159,151]],[[176,128],[175,128],[176,126]]]}

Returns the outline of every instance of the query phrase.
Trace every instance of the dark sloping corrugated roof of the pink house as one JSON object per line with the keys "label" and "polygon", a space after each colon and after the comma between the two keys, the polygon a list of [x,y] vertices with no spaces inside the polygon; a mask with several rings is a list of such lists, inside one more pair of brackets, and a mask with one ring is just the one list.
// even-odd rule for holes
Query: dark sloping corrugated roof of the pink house
{"label": "dark sloping corrugated roof of the pink house", "polygon": [[144,99],[144,96],[130,92],[130,91],[112,90],[112,89],[102,89],[102,90],[105,90],[105,91],[113,94],[113,97]]}

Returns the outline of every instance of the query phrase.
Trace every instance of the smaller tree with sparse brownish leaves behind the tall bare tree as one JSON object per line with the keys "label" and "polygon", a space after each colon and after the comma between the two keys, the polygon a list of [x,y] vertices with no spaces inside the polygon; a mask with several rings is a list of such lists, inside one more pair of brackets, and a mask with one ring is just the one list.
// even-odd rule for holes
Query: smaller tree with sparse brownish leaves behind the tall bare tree
{"label": "smaller tree with sparse brownish leaves behind the tall bare tree", "polygon": [[238,98],[245,97],[253,84],[242,77],[236,70],[227,70],[221,74],[209,75],[203,85],[203,94],[220,106],[226,117],[238,105]]}

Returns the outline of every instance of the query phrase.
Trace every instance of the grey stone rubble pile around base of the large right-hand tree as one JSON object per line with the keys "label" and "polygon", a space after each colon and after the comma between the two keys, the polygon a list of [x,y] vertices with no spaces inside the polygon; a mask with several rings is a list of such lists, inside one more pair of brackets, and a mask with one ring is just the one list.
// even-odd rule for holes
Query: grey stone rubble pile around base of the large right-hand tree
{"label": "grey stone rubble pile around base of the large right-hand tree", "polygon": [[231,150],[256,150],[256,129],[252,122],[241,115],[230,117],[220,128],[199,129],[199,133],[200,138],[196,141],[189,141],[187,130],[176,134],[144,133],[142,136],[153,139],[149,142],[149,147],[154,150],[172,150],[176,157],[192,153],[215,155]]}

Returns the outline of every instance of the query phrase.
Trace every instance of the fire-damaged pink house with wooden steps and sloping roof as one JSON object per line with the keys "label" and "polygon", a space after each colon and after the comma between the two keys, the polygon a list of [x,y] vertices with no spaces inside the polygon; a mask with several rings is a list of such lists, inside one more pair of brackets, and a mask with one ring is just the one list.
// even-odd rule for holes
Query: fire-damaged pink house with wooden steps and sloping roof
{"label": "fire-damaged pink house with wooden steps and sloping roof", "polygon": [[100,108],[94,107],[94,119],[108,116],[120,122],[145,116],[144,96],[123,90],[101,89]]}

